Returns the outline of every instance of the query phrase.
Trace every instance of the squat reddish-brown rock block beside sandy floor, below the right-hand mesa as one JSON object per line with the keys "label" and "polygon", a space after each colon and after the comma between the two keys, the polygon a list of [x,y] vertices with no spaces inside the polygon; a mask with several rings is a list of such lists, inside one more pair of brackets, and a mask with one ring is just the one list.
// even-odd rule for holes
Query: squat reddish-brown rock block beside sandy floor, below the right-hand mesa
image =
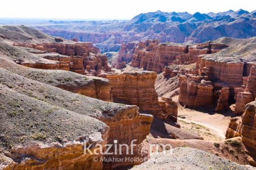
{"label": "squat reddish-brown rock block beside sandy floor, below the right-hand mesa", "polygon": [[187,75],[180,84],[179,102],[182,106],[207,106],[213,103],[213,84],[207,76]]}

